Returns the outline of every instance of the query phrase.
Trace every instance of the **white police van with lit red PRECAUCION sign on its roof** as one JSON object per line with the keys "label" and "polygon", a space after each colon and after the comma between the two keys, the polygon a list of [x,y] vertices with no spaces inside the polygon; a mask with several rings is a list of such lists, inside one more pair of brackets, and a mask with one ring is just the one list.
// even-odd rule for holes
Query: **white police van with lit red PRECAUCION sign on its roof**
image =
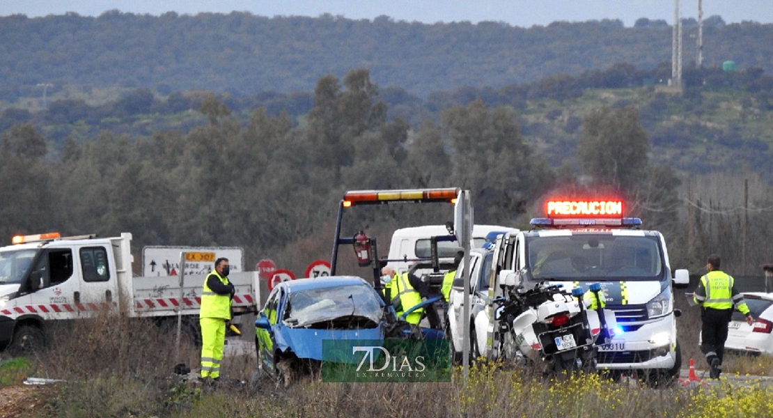
{"label": "white police van with lit red PRECAUCION sign on its roof", "polygon": [[[546,209],[547,217],[532,219],[530,230],[497,240],[490,297],[505,293],[499,284],[508,274],[515,274],[523,290],[543,283],[588,291],[601,284],[617,325],[611,340],[598,347],[598,369],[614,376],[636,372],[651,382],[673,380],[682,363],[673,285],[686,286],[690,278],[687,270],[672,277],[662,234],[641,229],[641,219],[624,217],[619,200],[557,200]],[[495,329],[490,323],[493,347]]]}

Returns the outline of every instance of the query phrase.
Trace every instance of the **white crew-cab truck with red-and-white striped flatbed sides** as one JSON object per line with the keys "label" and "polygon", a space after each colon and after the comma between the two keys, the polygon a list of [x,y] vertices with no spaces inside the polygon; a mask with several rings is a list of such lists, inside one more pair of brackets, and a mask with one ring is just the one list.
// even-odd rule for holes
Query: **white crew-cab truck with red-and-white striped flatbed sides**
{"label": "white crew-cab truck with red-and-white striped flatbed sides", "polygon": [[[43,347],[47,328],[58,321],[117,312],[152,318],[158,325],[181,323],[198,342],[199,307],[206,275],[133,277],[131,233],[98,238],[60,233],[15,236],[0,247],[0,349],[29,352]],[[233,314],[257,311],[257,272],[230,274],[236,288]]]}

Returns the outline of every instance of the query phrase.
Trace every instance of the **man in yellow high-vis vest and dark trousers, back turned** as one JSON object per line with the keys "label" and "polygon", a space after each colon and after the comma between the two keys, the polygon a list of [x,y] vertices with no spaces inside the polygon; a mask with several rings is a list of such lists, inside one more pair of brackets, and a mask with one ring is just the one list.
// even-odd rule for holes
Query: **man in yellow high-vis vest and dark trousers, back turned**
{"label": "man in yellow high-vis vest and dark trousers, back turned", "polygon": [[707,260],[708,273],[700,277],[700,283],[695,290],[695,301],[700,304],[702,342],[700,350],[706,355],[709,363],[709,376],[719,379],[724,358],[724,343],[727,341],[727,325],[733,316],[733,306],[746,315],[749,325],[754,323],[744,302],[744,295],[735,288],[735,279],[730,274],[720,270],[720,256],[711,254]]}

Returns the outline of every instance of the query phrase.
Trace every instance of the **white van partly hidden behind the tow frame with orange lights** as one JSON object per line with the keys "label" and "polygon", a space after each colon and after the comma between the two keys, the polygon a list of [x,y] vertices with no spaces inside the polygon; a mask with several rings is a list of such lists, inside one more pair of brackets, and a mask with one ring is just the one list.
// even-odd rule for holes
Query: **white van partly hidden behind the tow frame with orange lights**
{"label": "white van partly hidden behind the tow frame with orange lights", "polygon": [[[496,235],[504,233],[516,233],[518,229],[499,225],[474,225],[472,226],[471,248],[481,248],[487,242],[492,242]],[[386,265],[395,271],[404,272],[419,261],[431,259],[431,237],[448,236],[448,229],[444,225],[425,225],[410,228],[397,229],[392,235],[389,247],[389,255]],[[461,243],[456,241],[438,242],[438,258],[441,263],[449,263],[454,254],[461,250]]]}

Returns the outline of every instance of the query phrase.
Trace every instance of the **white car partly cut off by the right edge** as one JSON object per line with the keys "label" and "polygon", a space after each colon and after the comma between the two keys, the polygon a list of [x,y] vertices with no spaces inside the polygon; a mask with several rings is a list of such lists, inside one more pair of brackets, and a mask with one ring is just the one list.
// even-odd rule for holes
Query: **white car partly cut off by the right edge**
{"label": "white car partly cut off by the right edge", "polygon": [[746,354],[773,354],[773,293],[743,293],[744,301],[756,320],[748,325],[744,314],[733,311],[733,319],[727,325],[725,351]]}

